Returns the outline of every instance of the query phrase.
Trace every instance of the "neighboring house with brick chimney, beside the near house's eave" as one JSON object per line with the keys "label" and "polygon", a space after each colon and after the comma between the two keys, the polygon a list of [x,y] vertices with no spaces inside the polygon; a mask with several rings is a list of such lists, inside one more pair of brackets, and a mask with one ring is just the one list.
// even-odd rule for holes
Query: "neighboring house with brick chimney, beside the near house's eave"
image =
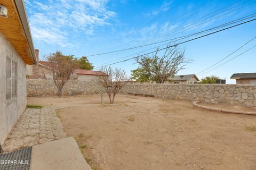
{"label": "neighboring house with brick chimney, beside the near house's eave", "polygon": [[52,71],[49,63],[39,61],[39,50],[35,49],[37,63],[35,65],[27,65],[27,78],[29,79],[52,79]]}

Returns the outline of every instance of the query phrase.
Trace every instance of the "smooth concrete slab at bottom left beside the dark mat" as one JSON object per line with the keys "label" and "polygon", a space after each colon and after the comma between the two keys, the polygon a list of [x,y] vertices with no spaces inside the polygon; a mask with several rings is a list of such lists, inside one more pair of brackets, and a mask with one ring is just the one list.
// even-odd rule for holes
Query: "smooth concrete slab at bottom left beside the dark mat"
{"label": "smooth concrete slab at bottom left beside the dark mat", "polygon": [[91,170],[73,137],[32,148],[30,170]]}

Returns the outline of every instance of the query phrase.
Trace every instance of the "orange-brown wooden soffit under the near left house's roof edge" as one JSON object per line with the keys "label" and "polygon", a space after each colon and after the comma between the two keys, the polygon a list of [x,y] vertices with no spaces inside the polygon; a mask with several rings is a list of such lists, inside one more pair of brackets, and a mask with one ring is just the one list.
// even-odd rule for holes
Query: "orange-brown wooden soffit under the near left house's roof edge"
{"label": "orange-brown wooden soffit under the near left house's roof edge", "polygon": [[[22,6],[19,6],[19,8],[24,9],[25,17],[27,17],[23,1],[19,1],[22,3]],[[8,18],[0,16],[1,33],[12,44],[23,61],[25,61],[26,64],[33,65],[35,63],[35,51],[33,41],[31,40],[29,26],[26,27],[28,25],[27,18],[25,18],[25,21],[24,13],[23,18],[21,18],[22,15],[20,15],[14,0],[0,0],[0,4],[6,6],[8,10]],[[27,28],[28,30],[26,30]]]}

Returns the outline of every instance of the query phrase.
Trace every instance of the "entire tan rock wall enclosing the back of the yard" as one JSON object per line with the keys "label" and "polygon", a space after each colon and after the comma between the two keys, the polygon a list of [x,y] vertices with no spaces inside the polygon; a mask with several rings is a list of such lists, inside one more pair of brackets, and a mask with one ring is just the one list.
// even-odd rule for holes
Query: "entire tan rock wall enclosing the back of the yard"
{"label": "entire tan rock wall enclosing the back of the yard", "polygon": [[[100,91],[101,87],[94,82],[68,81],[64,86],[63,95],[99,94]],[[121,93],[256,107],[256,86],[244,84],[126,84]],[[57,88],[53,81],[27,79],[27,96],[55,95]]]}

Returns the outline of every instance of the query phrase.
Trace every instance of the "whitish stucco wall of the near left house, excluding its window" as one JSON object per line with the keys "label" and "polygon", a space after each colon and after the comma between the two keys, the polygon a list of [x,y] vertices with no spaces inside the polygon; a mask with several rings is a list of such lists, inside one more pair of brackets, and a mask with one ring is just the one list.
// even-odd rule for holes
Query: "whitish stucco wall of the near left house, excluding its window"
{"label": "whitish stucco wall of the near left house, excluding its window", "polygon": [[[0,142],[3,143],[13,125],[26,108],[26,64],[0,32]],[[17,62],[17,97],[5,99],[6,57]]]}

